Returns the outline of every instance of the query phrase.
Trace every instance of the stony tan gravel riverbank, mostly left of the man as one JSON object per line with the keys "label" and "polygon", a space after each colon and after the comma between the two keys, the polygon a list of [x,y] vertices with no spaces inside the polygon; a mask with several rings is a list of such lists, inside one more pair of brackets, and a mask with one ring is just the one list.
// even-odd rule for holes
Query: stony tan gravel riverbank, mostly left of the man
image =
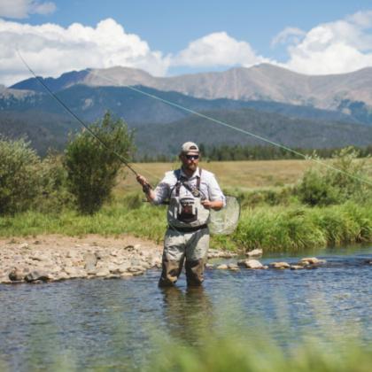
{"label": "stony tan gravel riverbank, mostly left of the man", "polygon": [[[128,235],[0,239],[0,283],[131,277],[160,268],[161,253],[161,245]],[[231,255],[215,250],[208,253],[209,258]]]}

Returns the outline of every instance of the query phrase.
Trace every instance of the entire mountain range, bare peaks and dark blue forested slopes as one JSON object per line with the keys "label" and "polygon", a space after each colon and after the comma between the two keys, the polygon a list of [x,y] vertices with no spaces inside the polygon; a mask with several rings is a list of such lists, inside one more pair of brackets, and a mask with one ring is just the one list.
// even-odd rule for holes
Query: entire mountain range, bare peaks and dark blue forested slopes
{"label": "entire mountain range, bare peaks and dark blue forested slopes", "polygon": [[[210,144],[258,144],[257,139],[236,136],[212,122],[205,127],[206,121],[193,112],[207,112],[287,146],[372,143],[372,68],[309,76],[263,64],[154,77],[118,66],[69,72],[43,82],[87,122],[101,118],[106,110],[122,117],[136,128],[136,144],[142,151],[150,150],[146,143],[151,142],[156,143],[151,151],[172,153],[174,143],[191,135]],[[43,153],[49,146],[62,149],[67,133],[78,127],[35,78],[0,87],[0,133],[16,137],[23,130]]]}

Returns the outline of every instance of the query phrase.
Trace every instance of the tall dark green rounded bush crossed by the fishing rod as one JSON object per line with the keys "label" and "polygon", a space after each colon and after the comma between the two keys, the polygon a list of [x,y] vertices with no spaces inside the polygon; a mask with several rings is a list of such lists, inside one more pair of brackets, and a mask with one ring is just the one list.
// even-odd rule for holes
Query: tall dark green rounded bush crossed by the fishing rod
{"label": "tall dark green rounded bush crossed by the fishing rod", "polygon": [[110,198],[121,161],[114,153],[128,159],[133,150],[133,132],[123,120],[104,119],[89,126],[103,141],[99,143],[89,131],[82,131],[67,144],[65,167],[68,188],[74,194],[81,213],[95,213]]}

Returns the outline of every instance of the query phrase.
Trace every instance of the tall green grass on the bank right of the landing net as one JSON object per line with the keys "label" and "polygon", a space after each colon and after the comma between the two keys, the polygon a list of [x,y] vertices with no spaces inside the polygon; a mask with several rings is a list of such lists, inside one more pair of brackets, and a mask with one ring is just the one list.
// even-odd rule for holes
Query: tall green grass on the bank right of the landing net
{"label": "tall green grass on the bank right of the landing net", "polygon": [[275,206],[244,209],[231,236],[245,249],[297,251],[372,241],[372,205],[349,202],[328,207]]}

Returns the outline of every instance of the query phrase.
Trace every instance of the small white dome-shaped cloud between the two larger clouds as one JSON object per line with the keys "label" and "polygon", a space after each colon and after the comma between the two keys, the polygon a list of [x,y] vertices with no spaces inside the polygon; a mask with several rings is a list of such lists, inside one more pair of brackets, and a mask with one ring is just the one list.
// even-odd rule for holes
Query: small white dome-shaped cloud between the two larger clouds
{"label": "small white dome-shaped cloud between the two larger clouds", "polygon": [[172,66],[252,66],[265,61],[249,43],[239,42],[226,32],[201,37],[172,59]]}

